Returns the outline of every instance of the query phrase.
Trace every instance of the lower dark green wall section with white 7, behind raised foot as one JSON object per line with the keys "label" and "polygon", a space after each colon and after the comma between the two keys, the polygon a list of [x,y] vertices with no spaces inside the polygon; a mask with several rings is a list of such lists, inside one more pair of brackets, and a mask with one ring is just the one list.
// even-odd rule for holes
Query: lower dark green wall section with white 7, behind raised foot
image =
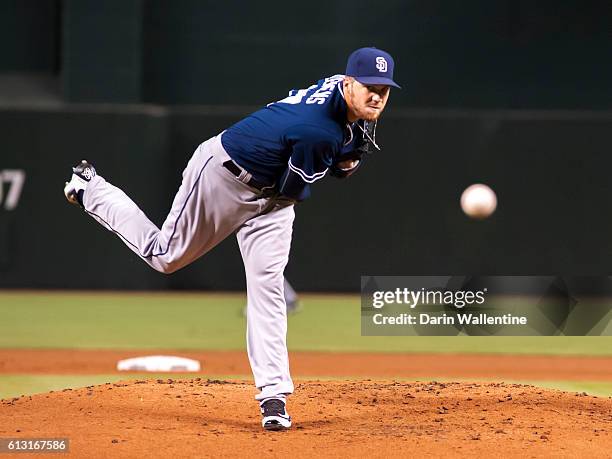
{"label": "lower dark green wall section with white 7, behind raised foot", "polygon": [[[0,242],[9,256],[0,285],[15,287],[155,287],[156,276],[132,269],[134,260],[110,234],[66,206],[63,183],[70,166],[95,158],[136,199],[165,196],[159,172],[166,161],[167,119],[146,113],[103,111],[0,112],[0,170],[23,169],[19,205],[0,207]],[[10,184],[5,183],[5,195]],[[159,211],[158,211],[159,212]],[[97,228],[95,228],[97,229]]]}

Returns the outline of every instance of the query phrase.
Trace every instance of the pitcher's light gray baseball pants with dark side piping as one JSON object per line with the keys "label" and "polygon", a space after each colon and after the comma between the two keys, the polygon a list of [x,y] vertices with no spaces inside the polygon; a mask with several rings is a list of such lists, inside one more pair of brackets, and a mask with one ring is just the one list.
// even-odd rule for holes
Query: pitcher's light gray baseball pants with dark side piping
{"label": "pitcher's light gray baseball pants with dark side piping", "polygon": [[247,351],[264,400],[293,392],[287,354],[283,271],[293,230],[293,201],[263,197],[223,167],[230,157],[221,135],[202,143],[161,229],[119,188],[94,177],[83,196],[85,210],[115,233],[151,267],[172,273],[236,233],[247,280]]}

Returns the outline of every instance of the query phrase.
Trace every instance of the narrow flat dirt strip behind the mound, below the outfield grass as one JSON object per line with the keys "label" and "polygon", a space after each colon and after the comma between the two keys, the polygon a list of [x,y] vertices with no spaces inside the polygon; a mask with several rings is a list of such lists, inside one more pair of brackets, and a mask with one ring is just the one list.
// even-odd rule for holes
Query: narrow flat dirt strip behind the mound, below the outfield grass
{"label": "narrow flat dirt strip behind the mound, below the outfield grass", "polygon": [[[206,375],[249,375],[244,351],[0,349],[0,374],[109,374],[121,359],[179,355]],[[612,357],[495,354],[291,352],[298,377],[612,381]]]}

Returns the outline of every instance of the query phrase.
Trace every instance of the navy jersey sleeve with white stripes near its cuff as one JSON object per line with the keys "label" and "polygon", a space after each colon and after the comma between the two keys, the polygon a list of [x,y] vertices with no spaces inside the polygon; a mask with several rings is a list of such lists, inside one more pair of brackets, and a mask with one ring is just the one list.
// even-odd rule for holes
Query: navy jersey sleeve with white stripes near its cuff
{"label": "navy jersey sleeve with white stripes near its cuff", "polygon": [[279,192],[297,201],[310,195],[310,184],[322,179],[338,149],[332,136],[321,129],[300,126],[289,133],[291,156],[280,179]]}

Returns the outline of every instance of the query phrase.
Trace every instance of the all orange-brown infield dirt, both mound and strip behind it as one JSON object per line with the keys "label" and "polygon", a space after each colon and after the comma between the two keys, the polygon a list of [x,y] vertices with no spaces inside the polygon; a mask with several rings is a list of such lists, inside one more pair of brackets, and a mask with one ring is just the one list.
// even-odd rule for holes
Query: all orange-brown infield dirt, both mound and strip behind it
{"label": "all orange-brown infield dirt, both mound and strip behind it", "polygon": [[[117,373],[118,360],[155,353],[198,359],[207,374],[249,372],[237,351],[3,349],[0,373]],[[70,457],[87,458],[612,455],[610,398],[500,382],[388,380],[609,381],[609,357],[296,352],[291,361],[298,382],[289,432],[263,431],[252,382],[195,375],[5,399],[0,437],[68,437]],[[313,375],[356,380],[306,380]]]}

